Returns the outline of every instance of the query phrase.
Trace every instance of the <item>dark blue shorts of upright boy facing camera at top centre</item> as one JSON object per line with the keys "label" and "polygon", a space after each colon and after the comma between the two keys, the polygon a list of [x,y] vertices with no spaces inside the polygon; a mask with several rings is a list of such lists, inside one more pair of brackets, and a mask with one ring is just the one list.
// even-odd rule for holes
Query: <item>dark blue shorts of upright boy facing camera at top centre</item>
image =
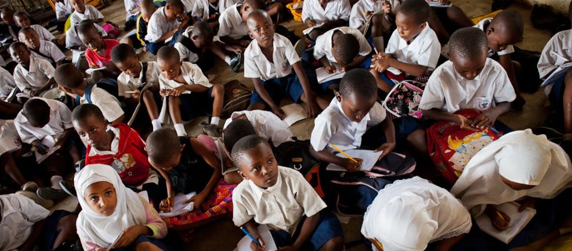
{"label": "dark blue shorts of upright boy facing camera at top centre", "polygon": [[[263,80],[262,86],[266,91],[268,91],[268,94],[276,105],[280,105],[280,101],[286,94],[288,94],[288,97],[292,98],[293,101],[297,103],[300,101],[300,97],[304,93],[300,79],[298,79],[298,76],[294,73],[287,75],[286,77]],[[256,90],[252,93],[251,103],[264,103],[264,105],[268,106]]]}

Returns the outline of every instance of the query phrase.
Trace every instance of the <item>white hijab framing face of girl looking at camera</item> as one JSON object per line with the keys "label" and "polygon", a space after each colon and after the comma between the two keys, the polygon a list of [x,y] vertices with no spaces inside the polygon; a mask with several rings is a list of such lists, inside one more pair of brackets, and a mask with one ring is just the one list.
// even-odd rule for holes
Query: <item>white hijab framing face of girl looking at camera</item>
{"label": "white hijab framing face of girl looking at camera", "polygon": [[[105,217],[89,208],[84,192],[89,185],[107,181],[113,184],[117,194],[117,206],[111,216]],[[77,219],[77,229],[102,248],[108,248],[117,236],[130,226],[146,224],[145,206],[137,193],[125,187],[111,166],[87,165],[74,178],[78,201],[83,209]],[[78,231],[79,232],[79,231]]]}

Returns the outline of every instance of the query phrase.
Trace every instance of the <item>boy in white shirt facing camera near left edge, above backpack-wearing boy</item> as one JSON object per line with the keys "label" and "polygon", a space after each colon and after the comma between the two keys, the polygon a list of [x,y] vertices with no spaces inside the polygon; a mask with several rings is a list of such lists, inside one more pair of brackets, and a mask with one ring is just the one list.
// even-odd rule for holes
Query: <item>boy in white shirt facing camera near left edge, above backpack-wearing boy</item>
{"label": "boy in white shirt facing camera near left edge, above backpack-wearing boy", "polygon": [[24,43],[12,43],[10,55],[18,63],[14,69],[14,81],[23,93],[35,97],[55,85],[54,67],[45,59],[30,57],[30,50]]}

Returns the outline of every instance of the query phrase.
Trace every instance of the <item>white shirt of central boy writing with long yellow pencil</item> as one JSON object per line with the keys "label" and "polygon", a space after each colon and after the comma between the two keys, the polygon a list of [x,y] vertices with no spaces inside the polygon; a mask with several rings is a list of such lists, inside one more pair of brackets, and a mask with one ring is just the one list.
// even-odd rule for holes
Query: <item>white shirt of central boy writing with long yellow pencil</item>
{"label": "white shirt of central boy writing with long yellow pencil", "polygon": [[341,110],[341,103],[333,98],[314,121],[310,144],[316,152],[328,149],[334,144],[340,150],[358,149],[362,145],[362,136],[368,126],[374,126],[386,119],[386,109],[375,102],[374,107],[360,122],[352,122]]}

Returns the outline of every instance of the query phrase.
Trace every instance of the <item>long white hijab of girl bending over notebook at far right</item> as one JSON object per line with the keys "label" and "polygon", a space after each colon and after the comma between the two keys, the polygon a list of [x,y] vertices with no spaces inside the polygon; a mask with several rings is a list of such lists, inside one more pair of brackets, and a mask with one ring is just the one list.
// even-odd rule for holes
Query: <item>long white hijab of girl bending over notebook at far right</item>
{"label": "long white hijab of girl bending over notebook at far right", "polygon": [[[513,190],[502,182],[501,176],[535,187]],[[451,193],[476,217],[487,204],[499,205],[524,196],[554,198],[569,188],[571,182],[568,154],[545,135],[535,135],[526,129],[506,134],[476,153]]]}

